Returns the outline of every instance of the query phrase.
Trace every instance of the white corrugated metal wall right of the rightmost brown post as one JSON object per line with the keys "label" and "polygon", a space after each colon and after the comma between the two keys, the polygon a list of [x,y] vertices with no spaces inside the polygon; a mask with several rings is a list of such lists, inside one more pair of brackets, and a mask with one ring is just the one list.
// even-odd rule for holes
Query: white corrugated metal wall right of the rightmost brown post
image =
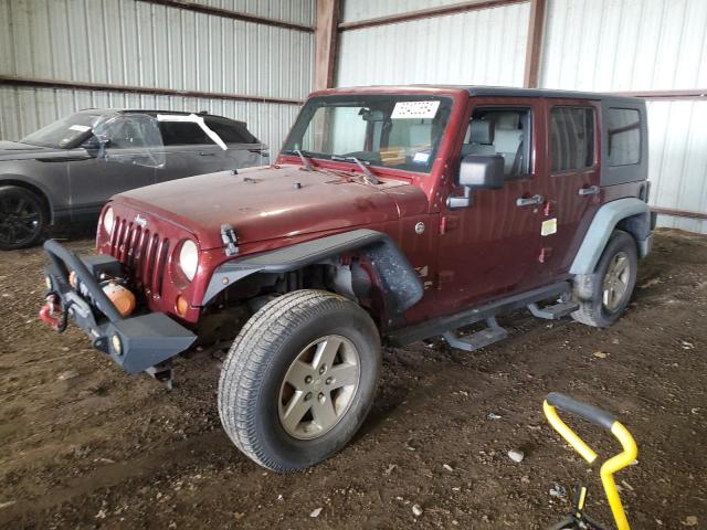
{"label": "white corrugated metal wall right of the rightmost brown post", "polygon": [[[707,87],[707,1],[550,0],[542,86],[582,91]],[[655,205],[707,212],[707,98],[651,100],[650,179]],[[661,215],[707,233],[707,222]]]}

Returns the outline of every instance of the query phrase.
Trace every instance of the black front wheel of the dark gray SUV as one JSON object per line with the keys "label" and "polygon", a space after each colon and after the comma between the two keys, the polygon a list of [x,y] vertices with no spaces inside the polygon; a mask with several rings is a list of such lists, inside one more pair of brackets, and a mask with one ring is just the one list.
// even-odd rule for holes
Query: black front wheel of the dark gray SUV
{"label": "black front wheel of the dark gray SUV", "polygon": [[13,251],[39,243],[46,224],[42,200],[24,188],[0,187],[0,250]]}

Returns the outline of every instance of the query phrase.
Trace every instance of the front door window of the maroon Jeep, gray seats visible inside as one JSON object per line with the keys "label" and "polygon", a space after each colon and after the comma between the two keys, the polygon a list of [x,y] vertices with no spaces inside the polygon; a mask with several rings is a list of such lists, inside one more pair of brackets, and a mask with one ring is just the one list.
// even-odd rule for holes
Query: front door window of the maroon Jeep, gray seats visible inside
{"label": "front door window of the maroon Jeep, gray seats visible inside", "polygon": [[531,138],[529,108],[476,108],[466,129],[462,158],[500,155],[506,179],[519,178],[530,173]]}

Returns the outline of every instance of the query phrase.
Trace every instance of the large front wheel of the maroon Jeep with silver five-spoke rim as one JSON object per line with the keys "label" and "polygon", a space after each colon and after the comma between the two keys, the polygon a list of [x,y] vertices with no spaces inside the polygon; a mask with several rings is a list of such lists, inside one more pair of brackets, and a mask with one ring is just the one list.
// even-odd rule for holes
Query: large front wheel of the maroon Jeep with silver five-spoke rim
{"label": "large front wheel of the maroon Jeep with silver five-spoke rim", "polygon": [[378,329],[338,295],[297,290],[246,322],[219,381],[219,414],[233,443],[275,471],[305,469],[358,431],[380,372]]}

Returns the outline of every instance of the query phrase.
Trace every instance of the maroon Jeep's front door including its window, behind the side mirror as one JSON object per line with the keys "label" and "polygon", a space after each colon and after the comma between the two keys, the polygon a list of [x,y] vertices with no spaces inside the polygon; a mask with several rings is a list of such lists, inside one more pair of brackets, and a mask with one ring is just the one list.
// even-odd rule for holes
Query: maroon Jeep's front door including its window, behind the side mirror
{"label": "maroon Jeep's front door including its window, behind the side mirror", "polygon": [[[545,189],[542,161],[535,157],[545,128],[538,102],[477,98],[469,105],[465,129],[460,131],[453,176],[458,174],[464,156],[500,155],[505,183],[496,190],[471,190],[467,206],[441,206],[437,304],[444,312],[456,312],[539,284],[537,261],[544,205],[531,202],[542,200]],[[447,197],[463,192],[452,184]]]}

